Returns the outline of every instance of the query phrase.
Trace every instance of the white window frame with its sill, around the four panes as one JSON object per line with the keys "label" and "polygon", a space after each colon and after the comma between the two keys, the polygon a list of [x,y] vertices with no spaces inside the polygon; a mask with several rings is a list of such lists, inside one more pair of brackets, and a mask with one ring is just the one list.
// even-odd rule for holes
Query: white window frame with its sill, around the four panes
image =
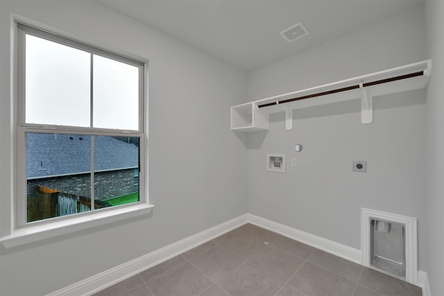
{"label": "white window frame with its sill, around the four panes", "polygon": [[[41,31],[22,24],[17,24],[17,124],[16,124],[16,145],[17,159],[15,168],[16,197],[12,213],[12,232],[10,235],[2,236],[0,242],[6,247],[23,245],[33,241],[40,241],[44,238],[51,238],[61,234],[76,232],[80,229],[105,225],[114,221],[148,214],[154,207],[148,203],[147,167],[146,167],[146,92],[145,77],[147,72],[146,62],[139,62],[132,58],[126,58],[120,54],[111,53],[103,49],[76,42],[60,35]],[[105,128],[82,128],[61,125],[42,125],[26,123],[26,98],[25,98],[25,37],[26,34],[35,35],[46,40],[58,42],[63,45],[81,49],[89,53],[111,58],[119,62],[125,62],[139,68],[139,128],[138,130],[115,130]],[[92,110],[90,110],[92,111]],[[48,218],[44,220],[26,223],[26,132],[56,133],[56,134],[85,134],[90,136],[117,136],[139,137],[139,202],[123,204],[105,209],[92,210],[68,216]],[[93,159],[92,159],[93,161]],[[94,175],[94,174],[93,174]],[[140,181],[142,180],[142,182]],[[93,208],[94,209],[94,208]]]}

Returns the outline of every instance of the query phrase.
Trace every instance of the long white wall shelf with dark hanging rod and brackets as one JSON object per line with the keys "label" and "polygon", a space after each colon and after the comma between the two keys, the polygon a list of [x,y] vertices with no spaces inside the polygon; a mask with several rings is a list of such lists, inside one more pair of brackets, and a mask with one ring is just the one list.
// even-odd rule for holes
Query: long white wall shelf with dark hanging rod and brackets
{"label": "long white wall shelf with dark hanging rod and brackets", "polygon": [[231,129],[268,130],[269,114],[285,112],[285,128],[293,128],[293,110],[361,98],[361,122],[373,122],[373,97],[427,86],[432,60],[302,89],[231,107]]}

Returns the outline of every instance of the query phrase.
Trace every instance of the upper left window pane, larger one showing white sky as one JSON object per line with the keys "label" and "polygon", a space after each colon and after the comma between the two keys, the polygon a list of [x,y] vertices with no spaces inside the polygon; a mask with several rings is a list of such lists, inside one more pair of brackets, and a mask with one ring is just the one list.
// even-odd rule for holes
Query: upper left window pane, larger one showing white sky
{"label": "upper left window pane, larger one showing white sky", "polygon": [[26,123],[90,125],[91,54],[26,35]]}

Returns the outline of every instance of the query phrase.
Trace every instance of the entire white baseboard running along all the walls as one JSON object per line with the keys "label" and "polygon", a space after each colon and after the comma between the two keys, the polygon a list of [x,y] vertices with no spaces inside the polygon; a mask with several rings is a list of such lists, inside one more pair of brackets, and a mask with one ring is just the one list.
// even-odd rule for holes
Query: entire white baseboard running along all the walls
{"label": "entire white baseboard running along all the walls", "polygon": [[[296,241],[300,241],[301,243],[305,243],[307,245],[311,245],[312,247],[316,247],[317,249],[329,252],[330,254],[340,256],[343,259],[361,264],[361,250],[330,241],[326,238],[322,238],[321,236],[302,232],[298,229],[294,229],[280,223],[275,223],[274,221],[255,216],[253,214],[244,214],[203,232],[199,232],[198,234],[184,238],[176,243],[167,245],[167,247],[162,247],[159,250],[155,250],[154,252],[141,256],[132,261],[128,261],[127,263],[123,263],[115,268],[106,270],[105,272],[101,272],[98,275],[78,281],[75,284],[57,290],[47,296],[92,295],[100,290],[103,290],[104,288],[117,284],[123,279],[137,275],[137,273],[142,272],[143,270],[151,268],[154,265],[162,263],[163,261],[167,261],[173,256],[177,256],[178,254],[182,254],[193,247],[206,243],[207,241],[211,241],[213,238],[221,236],[226,232],[230,232],[232,229],[240,227],[246,223],[257,225],[272,232],[287,236],[288,238],[292,238]],[[418,286],[422,288],[422,296],[432,296],[430,293],[427,272],[418,270]]]}

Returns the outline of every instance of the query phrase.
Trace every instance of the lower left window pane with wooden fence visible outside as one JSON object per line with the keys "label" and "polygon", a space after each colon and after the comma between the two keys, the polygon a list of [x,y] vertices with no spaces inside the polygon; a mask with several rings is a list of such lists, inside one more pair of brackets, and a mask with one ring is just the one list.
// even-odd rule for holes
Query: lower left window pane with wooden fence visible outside
{"label": "lower left window pane with wooden fence visible outside", "polygon": [[91,138],[26,133],[27,222],[91,209]]}

